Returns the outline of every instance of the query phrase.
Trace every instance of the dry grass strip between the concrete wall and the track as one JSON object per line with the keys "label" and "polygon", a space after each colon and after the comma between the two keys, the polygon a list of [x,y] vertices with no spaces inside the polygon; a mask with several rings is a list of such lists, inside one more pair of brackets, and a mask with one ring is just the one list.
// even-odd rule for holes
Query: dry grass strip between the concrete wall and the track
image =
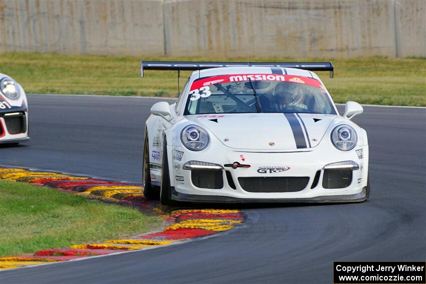
{"label": "dry grass strip between the concrete wall and the track", "polygon": [[[245,61],[227,58],[145,58],[38,53],[2,53],[0,72],[27,93],[177,96],[176,72],[149,71],[139,77],[139,61]],[[336,103],[426,106],[425,58],[291,59],[253,61],[332,61],[335,78],[318,72]],[[182,72],[181,85],[189,72]]]}

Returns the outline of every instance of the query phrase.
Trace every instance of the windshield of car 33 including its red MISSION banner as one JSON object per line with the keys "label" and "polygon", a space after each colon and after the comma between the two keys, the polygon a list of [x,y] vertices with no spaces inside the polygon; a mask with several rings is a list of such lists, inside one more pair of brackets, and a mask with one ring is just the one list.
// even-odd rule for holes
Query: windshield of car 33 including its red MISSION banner
{"label": "windshield of car 33 including its red MISSION banner", "polygon": [[336,114],[326,89],[316,79],[238,74],[194,81],[184,115],[259,112]]}

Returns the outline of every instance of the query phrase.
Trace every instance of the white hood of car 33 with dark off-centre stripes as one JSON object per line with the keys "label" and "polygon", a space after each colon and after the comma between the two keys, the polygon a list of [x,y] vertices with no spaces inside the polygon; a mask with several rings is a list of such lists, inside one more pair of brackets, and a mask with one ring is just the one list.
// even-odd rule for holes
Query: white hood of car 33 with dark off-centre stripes
{"label": "white hood of car 33 with dark off-centre stripes", "polygon": [[250,113],[190,115],[227,147],[247,150],[303,150],[317,146],[336,115]]}

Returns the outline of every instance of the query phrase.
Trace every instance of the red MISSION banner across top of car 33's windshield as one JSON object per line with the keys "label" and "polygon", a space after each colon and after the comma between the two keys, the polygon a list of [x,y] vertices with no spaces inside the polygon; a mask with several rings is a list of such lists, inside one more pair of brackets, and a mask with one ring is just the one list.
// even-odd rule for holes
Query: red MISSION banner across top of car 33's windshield
{"label": "red MISSION banner across top of car 33's windshield", "polygon": [[233,74],[233,75],[221,75],[213,76],[205,79],[201,79],[192,83],[192,90],[199,90],[203,87],[207,87],[215,84],[223,83],[233,83],[233,82],[243,82],[243,81],[282,81],[282,82],[291,82],[298,84],[306,84],[313,87],[321,89],[323,93],[326,93],[324,86],[320,81],[307,78],[303,76],[294,76],[294,75],[281,75],[281,74]]}

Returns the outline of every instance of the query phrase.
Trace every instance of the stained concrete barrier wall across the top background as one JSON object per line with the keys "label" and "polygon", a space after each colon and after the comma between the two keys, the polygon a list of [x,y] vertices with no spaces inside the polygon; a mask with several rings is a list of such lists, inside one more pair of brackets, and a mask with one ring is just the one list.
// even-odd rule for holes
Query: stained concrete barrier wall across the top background
{"label": "stained concrete barrier wall across the top background", "polygon": [[426,1],[0,2],[0,49],[118,56],[426,56]]}

